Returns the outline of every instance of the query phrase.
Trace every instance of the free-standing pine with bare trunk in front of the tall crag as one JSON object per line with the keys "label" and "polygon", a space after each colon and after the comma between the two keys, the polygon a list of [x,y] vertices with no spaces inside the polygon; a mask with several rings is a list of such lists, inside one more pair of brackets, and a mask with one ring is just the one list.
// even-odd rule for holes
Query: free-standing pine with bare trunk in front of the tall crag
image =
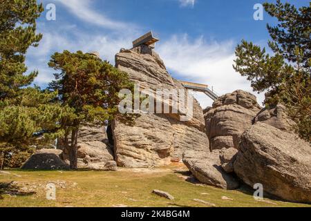
{"label": "free-standing pine with bare trunk in front of the tall crag", "polygon": [[[48,64],[59,71],[50,90],[58,91],[59,101],[74,113],[62,119],[64,145],[69,150],[70,168],[77,169],[77,135],[82,123],[107,124],[117,114],[119,91],[133,84],[128,75],[95,55],[65,50],[56,52]],[[70,144],[68,136],[70,135]]]}

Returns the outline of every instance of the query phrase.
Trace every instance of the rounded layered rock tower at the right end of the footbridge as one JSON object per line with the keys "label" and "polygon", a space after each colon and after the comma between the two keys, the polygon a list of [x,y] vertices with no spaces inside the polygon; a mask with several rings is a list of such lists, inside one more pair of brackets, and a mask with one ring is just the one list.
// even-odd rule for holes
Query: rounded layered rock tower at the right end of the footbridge
{"label": "rounded layered rock tower at the right end of the footbridge", "polygon": [[207,136],[211,150],[237,148],[233,136],[241,135],[261,110],[256,97],[243,90],[223,95],[205,113]]}

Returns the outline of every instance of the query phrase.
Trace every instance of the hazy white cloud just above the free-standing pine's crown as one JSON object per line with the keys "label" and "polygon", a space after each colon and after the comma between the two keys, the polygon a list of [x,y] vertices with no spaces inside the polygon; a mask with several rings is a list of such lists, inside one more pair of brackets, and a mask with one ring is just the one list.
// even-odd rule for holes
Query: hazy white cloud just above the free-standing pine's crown
{"label": "hazy white cloud just above the free-standing pine's crown", "polygon": [[[66,26],[66,24],[64,24]],[[67,26],[68,27],[68,26]],[[130,48],[131,41],[137,37],[133,35],[114,35],[113,32],[97,33],[89,35],[88,32],[82,32],[76,28],[65,30],[64,27],[48,28],[44,23],[38,23],[38,32],[43,34],[37,48],[30,48],[27,53],[28,73],[32,70],[39,70],[39,75],[35,79],[35,84],[45,86],[53,80],[52,68],[48,68],[50,56],[55,52],[69,50],[75,52],[97,51],[100,57],[114,64],[115,54],[120,48]],[[135,36],[134,36],[135,35]]]}

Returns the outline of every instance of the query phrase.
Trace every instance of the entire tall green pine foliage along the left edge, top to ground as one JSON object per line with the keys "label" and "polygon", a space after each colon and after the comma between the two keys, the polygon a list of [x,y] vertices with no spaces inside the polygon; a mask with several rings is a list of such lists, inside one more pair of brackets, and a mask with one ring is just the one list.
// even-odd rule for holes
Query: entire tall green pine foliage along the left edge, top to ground
{"label": "entire tall green pine foliage along the left edge, top to ground", "polygon": [[55,103],[57,93],[29,87],[37,71],[25,75],[25,55],[42,37],[36,0],[0,0],[0,169],[20,166],[29,155],[63,134],[59,119],[70,108]]}

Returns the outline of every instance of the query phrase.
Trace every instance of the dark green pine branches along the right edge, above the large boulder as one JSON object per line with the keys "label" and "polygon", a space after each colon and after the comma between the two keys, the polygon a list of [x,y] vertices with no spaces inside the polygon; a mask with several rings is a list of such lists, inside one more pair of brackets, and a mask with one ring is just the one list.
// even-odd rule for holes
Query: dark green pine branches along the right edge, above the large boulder
{"label": "dark green pine branches along the right edge, above the large boulder", "polygon": [[[311,6],[311,3],[310,3]],[[274,55],[252,42],[236,47],[234,69],[247,76],[252,88],[266,92],[265,104],[279,102],[288,108],[296,131],[311,142],[311,7],[297,10],[290,3],[265,3],[265,10],[279,21],[267,25],[272,37],[268,42]]]}

